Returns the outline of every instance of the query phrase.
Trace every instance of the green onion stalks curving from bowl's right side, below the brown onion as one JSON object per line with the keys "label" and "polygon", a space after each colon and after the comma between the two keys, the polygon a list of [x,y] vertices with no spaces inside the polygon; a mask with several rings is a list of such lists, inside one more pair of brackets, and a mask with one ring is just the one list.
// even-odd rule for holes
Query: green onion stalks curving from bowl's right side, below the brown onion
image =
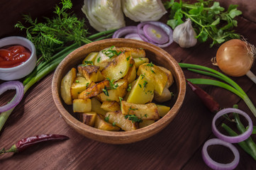
{"label": "green onion stalks curving from bowl's right side, below the brown onion", "polygon": [[252,111],[253,115],[255,115],[255,118],[256,118],[255,106],[253,105],[252,101],[250,101],[250,98],[247,96],[247,94],[245,94],[245,91],[243,91],[243,89],[238,84],[236,84],[235,81],[233,81],[229,77],[226,77],[226,75],[224,75],[214,69],[204,67],[201,65],[179,63],[179,66],[182,68],[187,68],[191,72],[196,72],[198,74],[204,74],[204,75],[207,75],[210,77],[215,77],[217,79],[225,81],[226,83],[223,83],[223,82],[217,81],[217,80],[213,80],[213,79],[188,79],[193,84],[213,85],[213,86],[218,86],[218,87],[221,87],[228,91],[231,91],[233,94],[236,94],[237,96],[242,98],[243,101],[245,101],[246,105],[248,106],[248,108],[250,108],[250,111]]}

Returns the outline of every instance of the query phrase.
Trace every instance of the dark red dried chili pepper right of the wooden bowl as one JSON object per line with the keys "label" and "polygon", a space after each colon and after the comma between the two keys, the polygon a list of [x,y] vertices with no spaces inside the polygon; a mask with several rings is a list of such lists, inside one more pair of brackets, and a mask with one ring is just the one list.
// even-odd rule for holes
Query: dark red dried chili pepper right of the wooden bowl
{"label": "dark red dried chili pepper right of the wooden bowl", "polygon": [[217,113],[218,111],[220,111],[220,105],[214,100],[214,98],[210,94],[207,94],[206,91],[201,89],[199,86],[196,86],[196,84],[192,84],[188,80],[186,81],[191,90],[194,91],[197,96],[199,96],[201,101],[211,111],[211,113]]}

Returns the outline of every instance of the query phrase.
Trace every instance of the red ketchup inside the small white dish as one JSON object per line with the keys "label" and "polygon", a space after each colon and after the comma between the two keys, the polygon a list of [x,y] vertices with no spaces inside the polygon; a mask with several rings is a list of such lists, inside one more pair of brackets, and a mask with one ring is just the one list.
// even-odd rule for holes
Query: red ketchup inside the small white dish
{"label": "red ketchup inside the small white dish", "polygon": [[13,45],[0,48],[0,68],[16,67],[26,62],[31,52],[22,45]]}

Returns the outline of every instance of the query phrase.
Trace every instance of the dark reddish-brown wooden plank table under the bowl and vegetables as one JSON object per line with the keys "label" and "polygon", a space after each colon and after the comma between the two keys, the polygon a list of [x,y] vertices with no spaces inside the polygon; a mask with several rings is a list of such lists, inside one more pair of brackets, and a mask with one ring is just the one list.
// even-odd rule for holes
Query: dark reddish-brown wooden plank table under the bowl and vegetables
{"label": "dark reddish-brown wooden plank table under the bowl and vegetables", "polygon": [[[21,21],[21,14],[30,13],[33,17],[50,16],[52,6],[57,0],[11,1],[1,0],[0,38],[9,35],[24,35],[13,25]],[[80,17],[83,1],[73,1],[74,11]],[[167,15],[161,19],[167,21]],[[135,23],[131,23],[135,24]],[[91,31],[94,31],[90,28]],[[256,45],[256,23],[238,17],[237,33],[248,42]],[[209,43],[198,44],[189,49],[172,43],[165,50],[177,62],[201,64],[218,70],[211,64],[211,57],[216,55],[218,47],[209,47]],[[255,65],[251,69],[256,74]],[[218,70],[219,71],[219,70]],[[52,73],[53,74],[53,73]],[[108,145],[79,135],[69,128],[55,108],[51,94],[52,74],[35,84],[15,108],[0,133],[0,147],[11,147],[23,137],[45,133],[67,135],[69,140],[63,142],[45,142],[20,154],[0,156],[0,169],[209,169],[201,158],[201,149],[206,140],[213,137],[211,132],[211,114],[188,88],[182,109],[167,128],[146,140],[129,145]],[[201,78],[184,70],[186,78]],[[207,77],[206,77],[207,78]],[[232,77],[247,93],[256,105],[256,85],[247,77]],[[2,83],[4,81],[0,81]],[[215,86],[201,86],[211,94],[222,108],[238,104],[247,112],[256,125],[256,118],[245,103],[235,94]],[[3,103],[6,96],[0,96]],[[256,141],[255,135],[252,138]],[[256,161],[235,144],[240,153],[237,169],[256,169]],[[230,162],[231,152],[225,147],[211,149],[212,157],[220,162]]]}

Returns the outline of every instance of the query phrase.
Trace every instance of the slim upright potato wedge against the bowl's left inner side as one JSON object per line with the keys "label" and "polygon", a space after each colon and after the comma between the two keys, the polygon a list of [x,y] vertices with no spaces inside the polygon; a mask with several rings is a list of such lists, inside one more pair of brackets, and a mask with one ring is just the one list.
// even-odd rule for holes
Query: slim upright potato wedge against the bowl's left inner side
{"label": "slim upright potato wedge against the bowl's left inner side", "polygon": [[76,75],[77,69],[72,68],[69,70],[69,72],[67,72],[65,77],[63,77],[60,84],[60,95],[67,105],[72,105],[71,86],[76,78]]}

